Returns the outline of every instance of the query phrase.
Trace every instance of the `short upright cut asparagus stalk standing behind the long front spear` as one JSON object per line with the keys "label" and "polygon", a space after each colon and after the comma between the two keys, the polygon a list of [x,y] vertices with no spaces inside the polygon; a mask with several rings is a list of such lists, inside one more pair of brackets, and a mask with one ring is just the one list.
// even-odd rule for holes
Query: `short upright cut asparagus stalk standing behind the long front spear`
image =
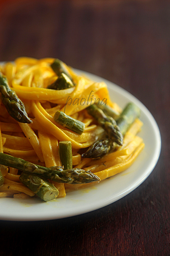
{"label": "short upright cut asparagus stalk standing behind the long front spear", "polygon": [[64,170],[72,169],[72,146],[70,141],[59,142],[59,154]]}

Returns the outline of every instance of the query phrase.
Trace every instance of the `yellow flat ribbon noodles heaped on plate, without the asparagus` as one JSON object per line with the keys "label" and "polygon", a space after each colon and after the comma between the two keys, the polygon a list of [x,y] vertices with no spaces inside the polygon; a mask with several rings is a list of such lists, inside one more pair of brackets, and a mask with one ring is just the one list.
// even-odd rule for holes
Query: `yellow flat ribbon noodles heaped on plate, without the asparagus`
{"label": "yellow flat ribbon noodles heaped on plate, without the asparagus", "polygon": [[[20,57],[14,62],[6,62],[0,71],[6,76],[9,86],[22,100],[31,124],[17,122],[12,118],[2,100],[0,100],[0,152],[22,158],[40,166],[61,166],[59,142],[70,141],[72,144],[73,168],[91,171],[101,180],[127,170],[143,150],[145,144],[137,134],[143,123],[138,118],[127,130],[123,146],[100,159],[82,158],[82,152],[96,140],[104,138],[106,132],[96,120],[88,114],[86,108],[91,104],[107,104],[117,113],[122,109],[119,102],[112,102],[105,82],[90,80],[84,74],[77,75],[74,70],[63,63],[70,73],[74,86],[62,90],[48,89],[55,82],[57,74],[51,68],[54,58]],[[85,124],[80,135],[61,126],[54,120],[60,110]],[[20,181],[21,170],[9,166],[0,166],[4,184],[0,187],[0,197],[27,199],[35,196]],[[58,190],[58,197],[66,193],[95,186],[98,182],[88,184],[63,184],[51,182]]]}

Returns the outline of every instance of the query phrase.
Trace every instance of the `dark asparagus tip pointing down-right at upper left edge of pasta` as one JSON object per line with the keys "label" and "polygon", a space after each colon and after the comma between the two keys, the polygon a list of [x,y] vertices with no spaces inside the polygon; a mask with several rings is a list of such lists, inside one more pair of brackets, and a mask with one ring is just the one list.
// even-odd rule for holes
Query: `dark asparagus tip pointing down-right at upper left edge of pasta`
{"label": "dark asparagus tip pointing down-right at upper left edge of pasta", "polygon": [[2,73],[0,73],[0,92],[2,103],[12,118],[21,123],[32,123],[27,116],[23,102],[17,97],[16,93],[10,89],[8,81]]}

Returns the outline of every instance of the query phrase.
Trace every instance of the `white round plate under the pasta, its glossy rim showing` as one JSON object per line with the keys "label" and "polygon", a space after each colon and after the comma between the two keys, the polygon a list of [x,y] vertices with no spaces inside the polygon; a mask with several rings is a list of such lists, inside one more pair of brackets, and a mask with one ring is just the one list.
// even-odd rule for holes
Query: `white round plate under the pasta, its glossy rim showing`
{"label": "white round plate under the pasta, its glossy rim showing", "polygon": [[[81,71],[76,70],[76,72],[80,73]],[[43,202],[35,198],[28,200],[1,198],[0,220],[53,220],[90,212],[129,194],[154,169],[160,155],[161,138],[158,126],[149,110],[137,98],[119,86],[98,76],[83,73],[96,82],[106,82],[111,99],[122,108],[128,102],[134,102],[141,108],[141,120],[144,126],[139,135],[144,139],[145,149],[126,171],[91,188],[70,192],[65,198],[51,202]]]}

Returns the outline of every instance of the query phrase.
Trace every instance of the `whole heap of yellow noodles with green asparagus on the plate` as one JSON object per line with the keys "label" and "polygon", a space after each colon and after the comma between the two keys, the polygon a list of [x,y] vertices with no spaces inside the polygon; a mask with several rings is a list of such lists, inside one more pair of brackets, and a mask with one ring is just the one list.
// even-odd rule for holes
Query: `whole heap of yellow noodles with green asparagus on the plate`
{"label": "whole heap of yellow noodles with green asparagus on the plate", "polygon": [[2,64],[0,96],[0,197],[65,197],[123,172],[145,146],[139,108],[61,60]]}

